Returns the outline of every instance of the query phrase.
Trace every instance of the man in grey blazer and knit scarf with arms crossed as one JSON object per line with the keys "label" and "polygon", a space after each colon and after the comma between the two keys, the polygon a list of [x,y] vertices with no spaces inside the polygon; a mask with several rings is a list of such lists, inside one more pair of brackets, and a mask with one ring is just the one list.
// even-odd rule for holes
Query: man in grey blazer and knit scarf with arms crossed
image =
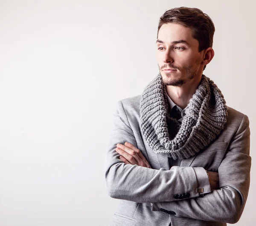
{"label": "man in grey blazer and knit scarf with arms crossed", "polygon": [[118,102],[105,160],[111,226],[236,223],[250,185],[247,115],[226,105],[202,72],[214,24],[195,8],[166,11],[158,26],[160,73]]}

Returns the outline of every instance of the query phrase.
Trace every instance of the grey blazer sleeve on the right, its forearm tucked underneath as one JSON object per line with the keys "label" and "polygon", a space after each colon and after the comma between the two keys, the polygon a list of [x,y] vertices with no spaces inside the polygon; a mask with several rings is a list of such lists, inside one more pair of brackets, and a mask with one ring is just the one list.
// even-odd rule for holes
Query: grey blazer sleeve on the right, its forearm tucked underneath
{"label": "grey blazer sleeve on the right, its forearm tucked underneath", "polygon": [[243,212],[250,186],[249,154],[249,119],[244,115],[218,168],[220,189],[213,190],[204,197],[153,203],[152,211],[167,210],[177,217],[236,223]]}

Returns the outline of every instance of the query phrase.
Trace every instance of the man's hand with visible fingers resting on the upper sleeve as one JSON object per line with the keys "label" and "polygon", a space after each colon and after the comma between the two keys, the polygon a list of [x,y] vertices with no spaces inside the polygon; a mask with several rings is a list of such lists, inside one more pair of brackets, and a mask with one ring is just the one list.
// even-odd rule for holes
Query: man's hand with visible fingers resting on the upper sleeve
{"label": "man's hand with visible fingers resting on the upper sleeve", "polygon": [[151,168],[143,154],[131,143],[125,142],[125,145],[118,143],[116,152],[121,154],[119,157],[125,164],[138,165]]}

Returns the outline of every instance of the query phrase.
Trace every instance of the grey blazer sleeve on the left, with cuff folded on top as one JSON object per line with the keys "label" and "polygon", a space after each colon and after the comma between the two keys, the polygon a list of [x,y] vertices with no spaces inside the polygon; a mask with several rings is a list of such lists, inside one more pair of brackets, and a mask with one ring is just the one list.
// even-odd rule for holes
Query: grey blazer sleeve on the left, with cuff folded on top
{"label": "grey blazer sleeve on the left, with cuff folded on top", "polygon": [[125,164],[119,159],[116,144],[125,142],[137,146],[133,130],[128,122],[122,101],[113,114],[113,126],[105,156],[105,182],[108,195],[137,203],[174,201],[173,194],[190,193],[198,197],[195,170],[192,167],[149,169]]}

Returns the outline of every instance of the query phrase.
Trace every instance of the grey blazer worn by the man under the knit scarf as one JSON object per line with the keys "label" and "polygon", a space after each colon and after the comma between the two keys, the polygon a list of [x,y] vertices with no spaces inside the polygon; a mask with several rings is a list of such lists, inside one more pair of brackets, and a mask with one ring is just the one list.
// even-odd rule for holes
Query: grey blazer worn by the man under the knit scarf
{"label": "grey blazer worn by the man under the knit scarf", "polygon": [[[224,130],[203,152],[169,168],[167,154],[156,154],[140,131],[141,95],[119,100],[105,157],[108,194],[120,199],[111,226],[224,226],[236,223],[250,185],[250,128],[247,115],[228,107]],[[126,165],[116,144],[136,146],[152,169]],[[199,197],[195,170],[218,172],[220,189]],[[189,193],[181,200],[175,195]],[[153,203],[153,204],[151,204]]]}

